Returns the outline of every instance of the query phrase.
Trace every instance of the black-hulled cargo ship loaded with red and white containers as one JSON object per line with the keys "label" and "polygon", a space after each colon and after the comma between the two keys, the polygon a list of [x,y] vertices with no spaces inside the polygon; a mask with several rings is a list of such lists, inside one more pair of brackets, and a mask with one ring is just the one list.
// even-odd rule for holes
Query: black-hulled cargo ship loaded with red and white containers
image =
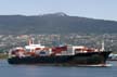
{"label": "black-hulled cargo ship loaded with red and white containers", "polygon": [[32,42],[9,51],[9,64],[105,65],[112,51],[84,46],[46,47]]}

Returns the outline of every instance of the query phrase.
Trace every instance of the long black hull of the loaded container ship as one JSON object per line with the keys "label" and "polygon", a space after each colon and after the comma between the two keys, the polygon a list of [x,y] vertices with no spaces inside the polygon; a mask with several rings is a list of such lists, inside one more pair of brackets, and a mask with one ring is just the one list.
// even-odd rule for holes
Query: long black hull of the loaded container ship
{"label": "long black hull of the loaded container ship", "polygon": [[68,65],[93,65],[105,64],[109,55],[108,52],[77,53],[75,55],[54,55],[54,56],[25,56],[10,57],[9,64],[68,64]]}

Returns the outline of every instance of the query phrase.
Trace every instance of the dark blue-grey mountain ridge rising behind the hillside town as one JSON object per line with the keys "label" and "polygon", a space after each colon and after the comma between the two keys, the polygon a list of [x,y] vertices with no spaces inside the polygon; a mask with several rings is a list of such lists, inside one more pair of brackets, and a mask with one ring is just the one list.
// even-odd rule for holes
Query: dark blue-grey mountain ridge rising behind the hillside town
{"label": "dark blue-grey mountain ridge rising behind the hillside town", "polygon": [[116,34],[117,22],[69,16],[63,12],[43,15],[0,15],[1,35]]}

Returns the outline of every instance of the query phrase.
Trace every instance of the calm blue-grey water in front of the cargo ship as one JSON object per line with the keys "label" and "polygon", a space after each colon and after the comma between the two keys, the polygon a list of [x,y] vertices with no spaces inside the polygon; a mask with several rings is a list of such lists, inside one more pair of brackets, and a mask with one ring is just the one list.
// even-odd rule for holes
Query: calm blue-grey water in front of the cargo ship
{"label": "calm blue-grey water in front of the cargo ship", "polygon": [[107,67],[10,65],[0,60],[0,77],[117,77],[117,61]]}

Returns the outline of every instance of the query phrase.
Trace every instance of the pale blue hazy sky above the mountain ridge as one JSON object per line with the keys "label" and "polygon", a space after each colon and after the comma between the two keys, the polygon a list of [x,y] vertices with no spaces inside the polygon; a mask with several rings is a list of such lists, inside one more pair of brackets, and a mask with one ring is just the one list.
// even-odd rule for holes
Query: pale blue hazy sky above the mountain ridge
{"label": "pale blue hazy sky above the mountain ridge", "polygon": [[117,0],[0,0],[0,15],[54,12],[117,21]]}

